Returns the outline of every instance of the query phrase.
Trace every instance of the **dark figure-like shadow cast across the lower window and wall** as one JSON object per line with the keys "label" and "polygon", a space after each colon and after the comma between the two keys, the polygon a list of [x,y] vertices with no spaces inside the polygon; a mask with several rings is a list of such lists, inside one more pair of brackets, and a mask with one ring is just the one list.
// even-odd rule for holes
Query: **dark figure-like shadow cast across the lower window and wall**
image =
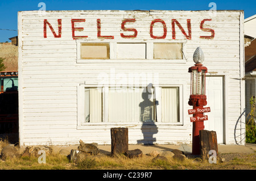
{"label": "dark figure-like shadow cast across the lower window and wall", "polygon": [[156,141],[156,138],[153,137],[153,134],[158,133],[158,128],[155,125],[155,103],[150,99],[152,98],[152,85],[149,84],[144,88],[142,92],[143,102],[139,103],[141,107],[141,116],[140,120],[142,122],[141,131],[143,134],[142,140],[137,140],[138,144],[144,145],[153,145]]}

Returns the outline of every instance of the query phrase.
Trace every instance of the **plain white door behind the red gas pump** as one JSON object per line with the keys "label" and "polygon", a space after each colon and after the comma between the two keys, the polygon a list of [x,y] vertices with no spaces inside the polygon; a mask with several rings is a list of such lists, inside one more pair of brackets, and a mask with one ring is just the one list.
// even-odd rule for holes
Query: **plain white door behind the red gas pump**
{"label": "plain white door behind the red gas pump", "polygon": [[206,78],[206,95],[207,106],[210,107],[208,120],[204,121],[205,130],[216,131],[218,144],[224,143],[224,98],[223,98],[223,78],[207,77]]}

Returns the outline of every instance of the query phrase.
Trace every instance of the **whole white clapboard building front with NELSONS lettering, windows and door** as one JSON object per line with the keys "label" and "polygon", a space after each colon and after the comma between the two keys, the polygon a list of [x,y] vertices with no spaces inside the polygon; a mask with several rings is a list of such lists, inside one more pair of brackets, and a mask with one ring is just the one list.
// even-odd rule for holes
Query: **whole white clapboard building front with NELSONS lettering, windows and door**
{"label": "whole white clapboard building front with NELSONS lettering, windows and door", "polygon": [[20,11],[20,145],[111,144],[115,127],[129,144],[190,144],[197,47],[205,129],[244,145],[243,42],[243,11]]}

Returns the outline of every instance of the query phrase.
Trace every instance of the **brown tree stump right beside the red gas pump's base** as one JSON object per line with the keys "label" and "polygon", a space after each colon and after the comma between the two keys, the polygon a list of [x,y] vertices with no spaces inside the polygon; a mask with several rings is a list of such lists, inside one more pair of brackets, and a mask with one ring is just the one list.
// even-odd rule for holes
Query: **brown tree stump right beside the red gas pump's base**
{"label": "brown tree stump right beside the red gas pump's base", "polygon": [[[203,159],[209,159],[209,151],[214,150],[216,151],[216,156],[218,155],[218,144],[217,144],[217,134],[215,131],[207,131],[207,130],[200,130],[199,131],[200,137],[200,154]],[[212,152],[214,152],[212,151]],[[212,155],[213,153],[211,153]]]}

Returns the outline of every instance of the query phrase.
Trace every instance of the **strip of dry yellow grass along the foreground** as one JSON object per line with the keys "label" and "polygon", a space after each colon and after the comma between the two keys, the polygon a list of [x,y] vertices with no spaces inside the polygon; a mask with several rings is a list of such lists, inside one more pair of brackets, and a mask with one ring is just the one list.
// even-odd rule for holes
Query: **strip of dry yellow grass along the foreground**
{"label": "strip of dry yellow grass along the foreground", "polygon": [[[0,139],[0,148],[9,145],[5,139]],[[59,153],[46,155],[46,163],[39,163],[38,157],[9,158],[6,161],[0,159],[0,170],[234,170],[256,169],[256,153],[250,154],[222,154],[224,162],[209,163],[208,160],[199,158],[186,158],[179,161],[174,158],[167,160],[156,159],[149,155],[140,158],[127,158],[125,155],[110,157],[105,154],[96,156],[88,155],[80,162],[71,163],[67,156]]]}

